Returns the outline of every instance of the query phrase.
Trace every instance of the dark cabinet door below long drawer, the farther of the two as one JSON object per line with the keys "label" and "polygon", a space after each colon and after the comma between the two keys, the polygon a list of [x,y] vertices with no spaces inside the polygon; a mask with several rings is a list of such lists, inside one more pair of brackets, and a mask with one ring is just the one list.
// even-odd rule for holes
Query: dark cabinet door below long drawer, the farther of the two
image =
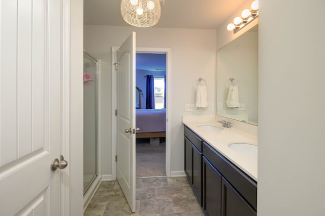
{"label": "dark cabinet door below long drawer, the farther of the two", "polygon": [[203,156],[203,210],[206,215],[221,215],[221,174]]}

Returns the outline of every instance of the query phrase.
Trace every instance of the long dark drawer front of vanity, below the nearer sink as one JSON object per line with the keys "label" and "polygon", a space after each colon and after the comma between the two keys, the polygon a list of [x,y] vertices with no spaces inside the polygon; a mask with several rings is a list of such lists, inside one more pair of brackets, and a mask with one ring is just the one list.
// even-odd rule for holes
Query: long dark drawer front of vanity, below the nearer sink
{"label": "long dark drawer front of vanity, below the nearer sink", "polygon": [[238,193],[256,210],[257,183],[205,142],[203,142],[202,153],[222,176],[231,183]]}

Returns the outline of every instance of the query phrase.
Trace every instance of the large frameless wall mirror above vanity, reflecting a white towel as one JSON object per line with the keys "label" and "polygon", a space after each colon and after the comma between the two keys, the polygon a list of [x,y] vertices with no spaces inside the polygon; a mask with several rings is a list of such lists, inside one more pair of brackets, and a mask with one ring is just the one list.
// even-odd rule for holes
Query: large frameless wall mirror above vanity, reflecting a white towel
{"label": "large frameless wall mirror above vanity, reflecting a white towel", "polygon": [[258,25],[217,51],[216,77],[217,115],[257,125]]}

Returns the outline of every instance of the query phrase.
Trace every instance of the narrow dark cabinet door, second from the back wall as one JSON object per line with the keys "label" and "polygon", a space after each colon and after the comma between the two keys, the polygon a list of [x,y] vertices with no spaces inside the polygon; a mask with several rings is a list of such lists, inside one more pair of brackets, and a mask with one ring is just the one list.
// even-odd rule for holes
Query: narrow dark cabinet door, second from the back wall
{"label": "narrow dark cabinet door, second from the back wall", "polygon": [[193,189],[196,192],[199,203],[202,206],[202,153],[192,145],[193,152]]}

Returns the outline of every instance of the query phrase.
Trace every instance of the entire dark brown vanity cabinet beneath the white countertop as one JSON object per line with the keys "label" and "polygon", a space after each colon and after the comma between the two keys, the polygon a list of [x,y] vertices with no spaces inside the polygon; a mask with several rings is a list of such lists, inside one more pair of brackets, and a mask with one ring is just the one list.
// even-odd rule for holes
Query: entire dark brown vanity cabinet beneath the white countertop
{"label": "entire dark brown vanity cabinet beneath the white countertop", "polygon": [[184,170],[206,215],[255,216],[257,182],[184,126]]}

